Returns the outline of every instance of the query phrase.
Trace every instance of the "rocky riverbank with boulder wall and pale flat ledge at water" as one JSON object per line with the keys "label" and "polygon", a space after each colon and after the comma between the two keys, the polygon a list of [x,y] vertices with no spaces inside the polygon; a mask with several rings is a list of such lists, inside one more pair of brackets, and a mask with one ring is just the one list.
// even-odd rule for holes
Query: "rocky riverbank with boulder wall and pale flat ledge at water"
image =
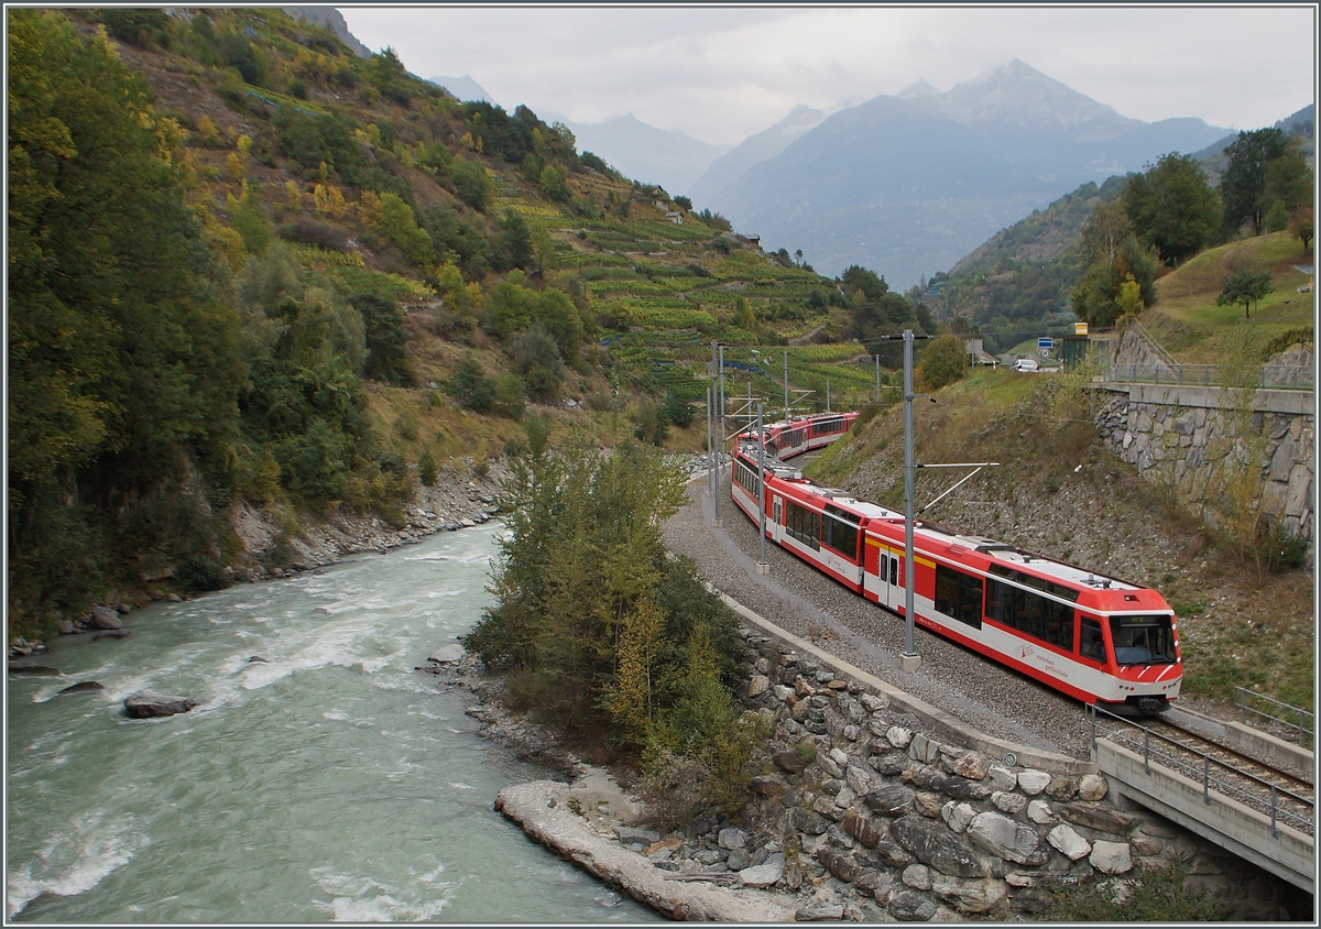
{"label": "rocky riverbank with boulder wall and pale flat ledge at water", "polygon": [[[425,670],[464,688],[481,733],[552,764],[563,781],[509,789],[506,815],[672,918],[967,921],[1040,918],[1061,891],[1180,862],[1186,887],[1219,895],[1236,921],[1287,920],[1279,881],[1143,810],[1107,799],[1098,774],[996,760],[925,732],[884,694],[744,629],[744,706],[775,720],[753,798],[733,818],[662,833],[641,805],[576,761],[552,733],[510,714],[472,657]],[[594,781],[594,793],[581,790]],[[613,784],[613,782],[612,782]],[[588,799],[592,797],[592,799]],[[602,799],[604,797],[604,799]],[[700,900],[691,899],[701,887]],[[727,895],[725,904],[711,903]],[[727,907],[721,909],[720,907]]]}

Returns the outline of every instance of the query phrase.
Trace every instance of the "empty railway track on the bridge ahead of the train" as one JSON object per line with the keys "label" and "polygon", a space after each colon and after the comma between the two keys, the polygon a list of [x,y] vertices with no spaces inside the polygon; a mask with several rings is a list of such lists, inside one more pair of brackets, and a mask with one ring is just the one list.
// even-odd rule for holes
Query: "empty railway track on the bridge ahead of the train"
{"label": "empty railway track on the bridge ahead of the train", "polygon": [[1166,719],[1098,716],[1096,737],[1141,755],[1305,835],[1316,834],[1314,785],[1260,757],[1225,745]]}

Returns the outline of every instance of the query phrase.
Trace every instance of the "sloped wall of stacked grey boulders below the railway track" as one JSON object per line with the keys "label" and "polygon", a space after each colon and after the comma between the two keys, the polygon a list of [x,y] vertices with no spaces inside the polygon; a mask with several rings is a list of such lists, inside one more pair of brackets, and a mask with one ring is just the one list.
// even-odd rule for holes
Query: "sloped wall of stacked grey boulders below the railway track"
{"label": "sloped wall of stacked grey boulders below the railway track", "polygon": [[[1052,892],[1141,863],[1181,860],[1234,918],[1277,918],[1264,872],[1145,811],[1107,799],[1099,774],[1004,764],[914,727],[886,694],[748,630],[745,703],[778,719],[742,829],[699,821],[663,867],[752,870],[769,887],[843,904],[860,920],[1037,914]],[[812,900],[801,912],[812,910]]]}

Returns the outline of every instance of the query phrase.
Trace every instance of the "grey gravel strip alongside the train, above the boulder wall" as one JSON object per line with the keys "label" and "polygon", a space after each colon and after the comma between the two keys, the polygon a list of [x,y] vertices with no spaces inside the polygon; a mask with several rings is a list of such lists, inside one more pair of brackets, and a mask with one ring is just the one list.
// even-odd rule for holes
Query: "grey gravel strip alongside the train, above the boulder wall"
{"label": "grey gravel strip alongside the train, above the boulder wall", "polygon": [[1089,757],[1083,704],[988,662],[921,626],[914,645],[922,666],[900,670],[904,621],[766,542],[769,576],[756,574],[757,527],[721,484],[723,527],[705,480],[688,485],[690,502],[666,523],[666,542],[687,555],[716,588],[771,622],[952,714],[982,732],[1044,751]]}

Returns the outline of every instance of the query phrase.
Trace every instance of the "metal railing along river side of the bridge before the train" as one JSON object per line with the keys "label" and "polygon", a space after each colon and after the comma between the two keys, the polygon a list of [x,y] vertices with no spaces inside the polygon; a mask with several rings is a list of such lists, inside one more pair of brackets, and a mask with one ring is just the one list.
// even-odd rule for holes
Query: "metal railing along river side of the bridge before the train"
{"label": "metal railing along river side of the bridge before the train", "polygon": [[[1091,745],[1094,755],[1096,751],[1096,741],[1099,737],[1102,737],[1100,736],[1102,715],[1108,716],[1110,719],[1114,719],[1119,723],[1123,723],[1123,728],[1116,727],[1112,731],[1106,732],[1104,737],[1116,745],[1123,745],[1135,753],[1141,753],[1143,770],[1145,774],[1149,776],[1152,773],[1151,770],[1152,760],[1156,759],[1157,764],[1162,765],[1164,768],[1178,772],[1184,777],[1188,777],[1189,780],[1201,784],[1203,803],[1210,805],[1211,792],[1215,792],[1217,794],[1221,794],[1222,797],[1229,797],[1230,799],[1234,799],[1235,802],[1239,802],[1243,806],[1258,809],[1267,813],[1271,817],[1271,835],[1275,838],[1279,838],[1280,835],[1279,830],[1280,822],[1284,822],[1285,825],[1289,825],[1293,829],[1297,829],[1299,831],[1312,833],[1313,825],[1316,822],[1316,806],[1313,805],[1313,801],[1308,799],[1306,797],[1296,794],[1291,790],[1285,790],[1284,788],[1271,784],[1269,781],[1264,781],[1256,774],[1246,772],[1240,768],[1235,768],[1234,765],[1226,764],[1219,759],[1213,759],[1206,752],[1199,752],[1198,749],[1192,748],[1190,745],[1185,745],[1174,739],[1162,736],[1159,732],[1152,732],[1145,725],[1133,723],[1132,720],[1124,719],[1123,716],[1116,716],[1115,714],[1107,710],[1102,710],[1095,704],[1090,707]],[[1143,735],[1140,739],[1131,735],[1133,729],[1141,731]],[[1155,748],[1152,747],[1153,740],[1156,741]],[[1189,764],[1185,759],[1180,759],[1172,753],[1162,752],[1160,749],[1160,745],[1162,743],[1168,745],[1177,745],[1184,752],[1199,756],[1201,764],[1199,765]],[[1234,772],[1235,777],[1246,778],[1252,785],[1262,788],[1260,793],[1252,793],[1235,784],[1231,784],[1227,780],[1223,780],[1223,774],[1219,778],[1213,774],[1213,772],[1219,773],[1225,770]],[[1267,793],[1269,794],[1269,801],[1264,799],[1264,794]],[[1283,797],[1287,797],[1301,805],[1305,805],[1308,809],[1312,810],[1312,817],[1304,818],[1291,810],[1283,809],[1280,806],[1280,799]]]}

